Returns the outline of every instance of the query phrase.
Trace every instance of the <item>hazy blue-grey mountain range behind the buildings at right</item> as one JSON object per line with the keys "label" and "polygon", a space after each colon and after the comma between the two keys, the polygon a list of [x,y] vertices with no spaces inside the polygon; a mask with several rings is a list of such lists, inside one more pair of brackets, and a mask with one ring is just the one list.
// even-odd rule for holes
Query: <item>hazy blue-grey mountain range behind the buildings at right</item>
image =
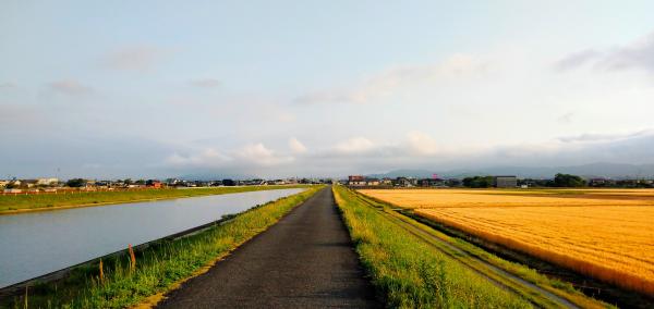
{"label": "hazy blue-grey mountain range behind the buildings at right", "polygon": [[380,174],[370,174],[370,177],[399,177],[411,176],[417,178],[432,177],[433,174],[438,174],[446,178],[462,178],[474,175],[517,175],[523,178],[552,178],[556,173],[567,173],[580,175],[586,178],[592,177],[609,177],[609,178],[635,178],[635,177],[654,177],[654,164],[621,164],[621,163],[591,163],[583,165],[571,166],[492,166],[480,169],[459,169],[448,171],[429,171],[429,170],[396,170]]}

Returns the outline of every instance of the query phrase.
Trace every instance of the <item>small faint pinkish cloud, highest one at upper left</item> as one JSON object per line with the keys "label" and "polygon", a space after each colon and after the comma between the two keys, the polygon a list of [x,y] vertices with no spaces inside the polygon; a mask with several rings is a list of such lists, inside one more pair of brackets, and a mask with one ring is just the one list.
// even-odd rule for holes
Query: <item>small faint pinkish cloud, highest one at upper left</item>
{"label": "small faint pinkish cloud, highest one at upper left", "polygon": [[153,46],[131,46],[107,54],[102,63],[114,70],[145,72],[170,53]]}

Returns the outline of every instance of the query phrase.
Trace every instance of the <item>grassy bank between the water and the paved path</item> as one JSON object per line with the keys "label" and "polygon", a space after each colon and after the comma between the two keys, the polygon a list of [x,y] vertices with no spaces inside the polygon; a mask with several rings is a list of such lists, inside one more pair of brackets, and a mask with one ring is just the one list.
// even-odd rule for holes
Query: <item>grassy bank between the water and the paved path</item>
{"label": "grassy bank between the water and the paved path", "polygon": [[[39,284],[0,307],[125,308],[178,286],[208,269],[231,250],[265,231],[322,187],[247,210],[232,220],[184,238],[162,242],[135,254],[135,268],[124,255],[74,270],[56,283]],[[27,304],[27,306],[25,305]]]}

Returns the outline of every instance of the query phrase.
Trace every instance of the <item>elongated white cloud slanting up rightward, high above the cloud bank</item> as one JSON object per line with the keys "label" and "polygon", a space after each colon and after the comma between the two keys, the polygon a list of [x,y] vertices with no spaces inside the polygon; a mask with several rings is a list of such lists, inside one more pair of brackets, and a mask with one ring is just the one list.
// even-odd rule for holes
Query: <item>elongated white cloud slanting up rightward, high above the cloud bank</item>
{"label": "elongated white cloud slanting up rightward, high above the cloud bank", "polygon": [[370,103],[425,83],[482,76],[489,63],[469,54],[455,54],[436,64],[395,66],[350,88],[315,91],[295,98],[296,103]]}

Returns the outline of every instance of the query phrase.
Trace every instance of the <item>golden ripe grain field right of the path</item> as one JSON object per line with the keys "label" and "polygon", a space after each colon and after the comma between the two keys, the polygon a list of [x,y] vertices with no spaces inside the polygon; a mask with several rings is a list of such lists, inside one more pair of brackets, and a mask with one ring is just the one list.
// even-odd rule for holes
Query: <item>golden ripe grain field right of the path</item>
{"label": "golden ripe grain field right of the path", "polygon": [[581,273],[654,295],[654,190],[361,193]]}

